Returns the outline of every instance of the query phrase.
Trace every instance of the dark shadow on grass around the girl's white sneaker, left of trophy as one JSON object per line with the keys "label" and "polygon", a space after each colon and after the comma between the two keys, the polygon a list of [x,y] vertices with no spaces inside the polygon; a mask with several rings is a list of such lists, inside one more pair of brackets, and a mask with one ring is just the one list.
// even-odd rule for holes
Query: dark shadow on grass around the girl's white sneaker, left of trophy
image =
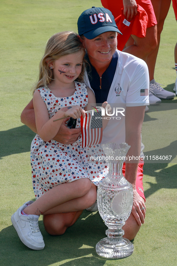
{"label": "dark shadow on grass around the girl's white sneaker, left of trophy", "polygon": [[[31,250],[20,241],[13,226],[0,232],[1,265],[6,266],[47,266],[57,263],[65,266],[103,266],[106,259],[96,254],[96,243],[106,237],[106,226],[99,213],[84,210],[81,217],[64,235],[51,236],[39,227],[45,241],[45,248]],[[115,261],[115,260],[114,260]]]}

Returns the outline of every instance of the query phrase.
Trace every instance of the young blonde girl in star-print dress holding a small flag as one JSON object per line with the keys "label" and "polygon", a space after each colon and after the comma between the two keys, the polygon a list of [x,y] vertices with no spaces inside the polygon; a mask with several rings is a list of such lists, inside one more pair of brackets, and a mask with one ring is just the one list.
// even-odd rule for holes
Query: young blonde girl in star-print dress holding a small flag
{"label": "young blonde girl in star-print dress holding a small flag", "polygon": [[[76,127],[79,127],[79,118],[84,118],[87,105],[96,102],[93,91],[81,83],[84,54],[84,46],[77,34],[65,31],[49,39],[40,62],[39,81],[33,94],[38,134],[31,144],[36,201],[26,202],[11,217],[21,241],[34,250],[42,250],[45,246],[38,227],[40,214],[49,234],[63,234],[82,210],[93,205],[96,185],[108,172],[104,163],[87,163],[86,149],[81,148],[81,136],[71,145],[53,140],[63,117],[77,118]],[[111,111],[107,102],[102,106]],[[57,120],[59,118],[62,119]]]}

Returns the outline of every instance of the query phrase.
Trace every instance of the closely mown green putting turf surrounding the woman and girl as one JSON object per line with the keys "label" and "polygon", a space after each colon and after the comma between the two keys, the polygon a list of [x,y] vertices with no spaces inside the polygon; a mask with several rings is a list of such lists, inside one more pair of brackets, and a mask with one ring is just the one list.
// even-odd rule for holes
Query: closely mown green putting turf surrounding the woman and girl
{"label": "closely mown green putting turf surrounding the woman and girl", "polygon": [[[20,114],[31,100],[30,89],[37,79],[46,41],[59,31],[77,31],[78,16],[92,6],[101,6],[101,2],[1,0],[0,261],[3,266],[176,265],[176,161],[144,166],[146,223],[134,239],[134,252],[128,258],[106,260],[97,256],[95,245],[105,237],[106,230],[98,212],[85,210],[77,223],[59,237],[45,232],[40,217],[46,244],[42,251],[25,247],[11,225],[13,212],[25,201],[34,199],[29,155],[34,133],[20,122]],[[171,6],[155,69],[156,81],[170,91],[176,80],[173,59],[176,31]],[[150,106],[145,115],[142,136],[147,153],[176,144],[177,98],[163,102],[175,103],[175,107],[167,110],[169,119],[167,108],[160,106],[159,109]],[[161,121],[168,120],[171,122],[163,122],[161,128]]]}

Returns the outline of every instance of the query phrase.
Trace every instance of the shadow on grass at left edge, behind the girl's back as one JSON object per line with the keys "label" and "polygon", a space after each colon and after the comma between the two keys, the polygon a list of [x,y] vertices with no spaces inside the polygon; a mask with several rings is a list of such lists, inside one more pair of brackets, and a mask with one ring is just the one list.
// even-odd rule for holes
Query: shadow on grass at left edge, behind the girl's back
{"label": "shadow on grass at left edge, behind the girl's back", "polygon": [[30,151],[31,142],[36,134],[23,125],[0,131],[0,158],[10,154],[18,154]]}

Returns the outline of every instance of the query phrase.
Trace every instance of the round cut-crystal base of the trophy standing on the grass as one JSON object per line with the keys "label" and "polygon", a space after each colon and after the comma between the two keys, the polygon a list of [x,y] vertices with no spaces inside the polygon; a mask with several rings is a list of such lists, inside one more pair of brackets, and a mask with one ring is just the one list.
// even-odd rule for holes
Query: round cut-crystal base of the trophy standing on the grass
{"label": "round cut-crystal base of the trophy standing on the grass", "polygon": [[103,238],[96,244],[96,253],[108,259],[128,257],[133,253],[133,249],[133,244],[126,238],[119,241]]}

